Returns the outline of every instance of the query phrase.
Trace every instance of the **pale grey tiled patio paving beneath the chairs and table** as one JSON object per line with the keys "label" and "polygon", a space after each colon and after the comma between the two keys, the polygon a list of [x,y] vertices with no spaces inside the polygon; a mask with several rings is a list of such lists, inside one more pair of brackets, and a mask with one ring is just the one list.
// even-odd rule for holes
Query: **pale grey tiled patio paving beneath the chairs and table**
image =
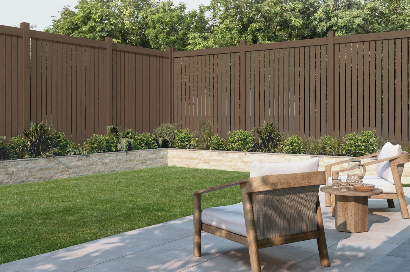
{"label": "pale grey tiled patio paving beneath the chairs and table", "polygon": [[[410,188],[403,188],[410,203]],[[260,249],[262,271],[395,271],[409,262],[410,219],[385,199],[369,199],[369,231],[335,229],[319,191],[330,267],[319,262],[316,240]],[[251,271],[248,247],[203,234],[202,257],[193,255],[192,216],[0,265],[0,272]]]}

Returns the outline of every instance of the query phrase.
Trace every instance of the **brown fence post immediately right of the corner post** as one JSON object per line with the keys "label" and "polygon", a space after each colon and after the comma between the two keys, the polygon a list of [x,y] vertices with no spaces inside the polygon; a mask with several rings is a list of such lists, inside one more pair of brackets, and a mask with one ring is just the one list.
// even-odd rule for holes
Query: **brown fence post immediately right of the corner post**
{"label": "brown fence post immediately right of the corner post", "polygon": [[243,130],[248,130],[249,124],[246,123],[246,112],[247,112],[247,105],[246,103],[248,102],[246,99],[246,41],[242,40],[241,41],[241,52],[239,54],[239,69],[240,69],[240,74],[239,74],[239,127]]}

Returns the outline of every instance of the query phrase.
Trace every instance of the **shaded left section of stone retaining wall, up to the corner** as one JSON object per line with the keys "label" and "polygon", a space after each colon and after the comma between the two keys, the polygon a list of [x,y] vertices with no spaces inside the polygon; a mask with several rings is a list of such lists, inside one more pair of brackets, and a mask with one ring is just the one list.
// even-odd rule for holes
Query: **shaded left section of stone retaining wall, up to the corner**
{"label": "shaded left section of stone retaining wall, up to the corner", "polygon": [[167,165],[166,149],[0,161],[0,185]]}

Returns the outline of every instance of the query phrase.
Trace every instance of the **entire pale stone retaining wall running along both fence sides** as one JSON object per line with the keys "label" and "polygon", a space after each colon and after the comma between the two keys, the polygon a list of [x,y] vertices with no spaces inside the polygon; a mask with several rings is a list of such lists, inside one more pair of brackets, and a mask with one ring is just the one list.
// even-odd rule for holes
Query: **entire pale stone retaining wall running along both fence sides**
{"label": "entire pale stone retaining wall running along both fence sides", "polygon": [[[319,170],[348,157],[298,154],[272,154],[212,150],[151,149],[130,152],[60,156],[40,159],[0,161],[0,185],[80,177],[84,175],[134,170],[163,165],[193,168],[249,171],[253,161],[282,163],[319,157]],[[371,160],[364,160],[364,162]],[[367,168],[366,175],[376,175],[376,166]],[[403,183],[410,183],[410,165],[404,168]]]}

